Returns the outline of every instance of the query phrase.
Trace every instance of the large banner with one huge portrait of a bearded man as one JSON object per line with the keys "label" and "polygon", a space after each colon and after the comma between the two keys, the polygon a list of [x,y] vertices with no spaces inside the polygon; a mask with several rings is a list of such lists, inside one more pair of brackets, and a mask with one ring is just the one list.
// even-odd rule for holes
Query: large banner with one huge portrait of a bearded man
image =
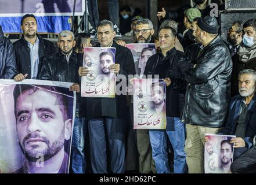
{"label": "large banner with one huge portrait of a bearded man", "polygon": [[68,173],[72,83],[0,80],[0,173]]}

